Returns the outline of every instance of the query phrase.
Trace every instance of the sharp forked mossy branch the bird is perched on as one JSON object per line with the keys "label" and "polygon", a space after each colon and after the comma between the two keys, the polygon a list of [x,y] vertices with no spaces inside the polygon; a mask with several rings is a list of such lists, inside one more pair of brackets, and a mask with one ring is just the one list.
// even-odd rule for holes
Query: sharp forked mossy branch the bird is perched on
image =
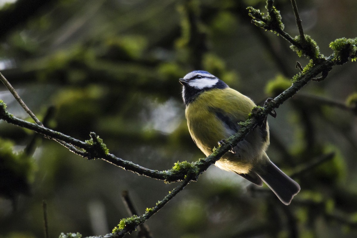
{"label": "sharp forked mossy branch the bird is perched on", "polygon": [[[30,130],[33,130],[37,133],[45,135],[48,138],[55,138],[57,140],[65,141],[72,146],[78,147],[84,151],[78,153],[78,149],[75,152],[82,157],[94,159],[100,158],[109,163],[115,164],[116,166],[122,167],[124,169],[130,170],[140,175],[145,175],[155,179],[161,179],[166,182],[177,182],[182,181],[177,188],[169,193],[162,201],[158,202],[157,205],[148,209],[145,214],[140,217],[132,217],[131,219],[124,219],[122,224],[125,224],[124,227],[117,227],[114,230],[114,233],[107,234],[104,237],[123,237],[127,232],[134,231],[137,226],[144,223],[149,219],[153,214],[159,211],[167,202],[176,196],[188,183],[191,181],[197,180],[198,176],[202,174],[208,167],[214,164],[221,156],[223,156],[228,150],[230,150],[230,144],[236,144],[239,141],[252,131],[264,118],[274,109],[278,108],[283,102],[291,98],[295,93],[297,93],[303,86],[305,86],[310,80],[316,77],[318,74],[331,68],[333,65],[337,64],[336,58],[334,55],[328,57],[325,61],[320,62],[319,64],[313,65],[310,69],[303,72],[301,75],[296,77],[296,82],[293,85],[282,92],[280,95],[274,98],[274,100],[269,101],[264,107],[257,107],[251,113],[251,117],[241,123],[241,129],[235,135],[228,138],[227,143],[218,147],[210,156],[205,159],[200,159],[195,163],[181,162],[176,163],[174,168],[167,171],[156,171],[141,167],[137,164],[134,164],[130,161],[125,161],[121,158],[118,158],[107,151],[106,146],[95,133],[91,133],[91,140],[83,142],[72,138],[70,136],[64,135],[63,133],[51,130],[49,128],[39,126],[35,123],[30,123],[19,118],[12,116],[6,110],[6,105],[3,101],[0,101],[0,119],[20,126]],[[122,228],[122,229],[121,229]]]}

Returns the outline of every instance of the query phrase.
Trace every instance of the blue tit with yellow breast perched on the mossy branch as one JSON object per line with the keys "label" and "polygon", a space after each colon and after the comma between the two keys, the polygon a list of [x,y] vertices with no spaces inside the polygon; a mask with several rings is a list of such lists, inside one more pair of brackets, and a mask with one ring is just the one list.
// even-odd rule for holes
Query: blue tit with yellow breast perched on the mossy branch
{"label": "blue tit with yellow breast perched on the mossy branch", "polygon": [[[188,130],[197,147],[206,155],[213,152],[217,142],[235,134],[246,121],[255,103],[233,90],[207,71],[192,71],[179,80],[186,105]],[[257,126],[244,140],[231,145],[215,165],[232,171],[248,181],[262,186],[263,182],[284,204],[290,204],[300,186],[273,164],[266,154],[269,146],[268,123]]]}

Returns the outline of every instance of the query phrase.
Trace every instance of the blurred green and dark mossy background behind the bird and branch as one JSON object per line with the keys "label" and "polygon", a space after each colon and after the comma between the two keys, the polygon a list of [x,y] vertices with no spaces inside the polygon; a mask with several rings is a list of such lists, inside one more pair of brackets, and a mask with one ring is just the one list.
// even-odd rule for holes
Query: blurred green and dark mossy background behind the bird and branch
{"label": "blurred green and dark mossy background behind the bird and branch", "polygon": [[[262,0],[1,4],[0,70],[31,110],[80,140],[94,131],[111,153],[151,169],[203,157],[187,130],[180,77],[207,70],[262,105],[291,85],[297,60],[308,62],[250,23],[246,7],[264,9]],[[355,0],[297,4],[322,54],[332,54],[331,41],[356,37]],[[275,5],[297,35],[290,1]],[[268,155],[301,185],[290,206],[212,166],[147,221],[153,237],[356,237],[357,120],[343,106],[347,98],[356,106],[356,75],[355,63],[336,66],[268,118]],[[0,99],[30,120],[5,87]],[[129,216],[122,191],[141,214],[175,186],[87,161],[3,121],[0,137],[0,237],[43,236],[43,200],[51,237],[104,235]]]}

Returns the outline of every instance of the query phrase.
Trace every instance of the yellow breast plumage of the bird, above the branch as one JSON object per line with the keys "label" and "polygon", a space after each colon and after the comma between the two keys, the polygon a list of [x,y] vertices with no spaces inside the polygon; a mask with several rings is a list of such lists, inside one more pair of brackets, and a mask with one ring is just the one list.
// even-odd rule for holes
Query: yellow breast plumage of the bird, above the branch
{"label": "yellow breast plumage of the bird, above the branch", "polygon": [[250,98],[232,88],[201,93],[186,107],[187,125],[192,139],[206,156],[210,155],[218,141],[235,133],[217,117],[217,111],[238,123],[247,119],[254,106]]}

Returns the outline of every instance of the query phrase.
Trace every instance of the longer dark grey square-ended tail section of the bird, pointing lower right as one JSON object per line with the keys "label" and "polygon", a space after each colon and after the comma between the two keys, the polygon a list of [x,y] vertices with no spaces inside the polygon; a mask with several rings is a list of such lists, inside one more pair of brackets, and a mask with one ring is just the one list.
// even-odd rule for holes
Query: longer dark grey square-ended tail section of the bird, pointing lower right
{"label": "longer dark grey square-ended tail section of the bird, pointing lower right", "polygon": [[292,198],[300,191],[299,184],[270,160],[260,171],[257,171],[257,174],[285,205],[289,205]]}

